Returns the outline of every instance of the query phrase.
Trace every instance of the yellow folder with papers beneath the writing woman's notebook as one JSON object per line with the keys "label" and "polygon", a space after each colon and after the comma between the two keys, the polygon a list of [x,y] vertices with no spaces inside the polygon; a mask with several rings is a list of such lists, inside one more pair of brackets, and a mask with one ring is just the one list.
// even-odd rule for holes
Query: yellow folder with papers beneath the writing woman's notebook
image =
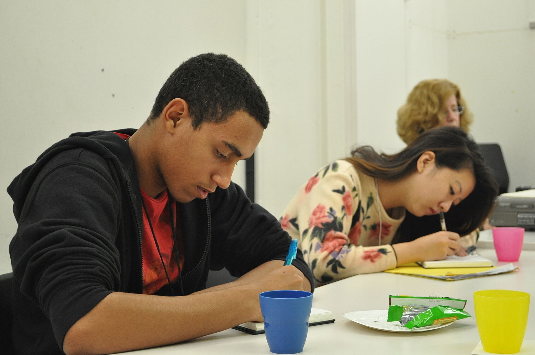
{"label": "yellow folder with papers beneath the writing woman's notebook", "polygon": [[409,276],[429,277],[430,279],[444,281],[455,281],[472,279],[472,277],[508,273],[514,271],[515,269],[517,269],[517,267],[512,263],[498,267],[457,267],[432,269],[426,269],[416,265],[415,263],[412,263],[406,266],[396,267],[395,269],[385,270],[385,272]]}

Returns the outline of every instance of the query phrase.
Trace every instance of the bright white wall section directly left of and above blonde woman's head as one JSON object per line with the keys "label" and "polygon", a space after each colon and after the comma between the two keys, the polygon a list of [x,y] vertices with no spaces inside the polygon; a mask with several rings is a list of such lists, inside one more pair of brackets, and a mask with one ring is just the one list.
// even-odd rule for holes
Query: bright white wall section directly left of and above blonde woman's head
{"label": "bright white wall section directly left of and above blonde woman's head", "polygon": [[358,145],[394,153],[396,113],[421,80],[448,76],[446,0],[356,2]]}

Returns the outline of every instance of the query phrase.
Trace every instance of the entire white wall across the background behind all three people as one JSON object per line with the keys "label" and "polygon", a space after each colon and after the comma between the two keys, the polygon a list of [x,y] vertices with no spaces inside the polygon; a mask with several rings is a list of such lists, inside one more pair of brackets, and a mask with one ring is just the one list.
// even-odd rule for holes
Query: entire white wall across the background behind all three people
{"label": "entire white wall across the background behind all three people", "polygon": [[396,111],[428,78],[460,84],[511,187],[535,184],[528,20],[534,0],[0,2],[0,273],[13,177],[72,132],[139,127],[174,68],[207,51],[242,63],[268,98],[256,195],[275,215],[352,145],[401,149]]}

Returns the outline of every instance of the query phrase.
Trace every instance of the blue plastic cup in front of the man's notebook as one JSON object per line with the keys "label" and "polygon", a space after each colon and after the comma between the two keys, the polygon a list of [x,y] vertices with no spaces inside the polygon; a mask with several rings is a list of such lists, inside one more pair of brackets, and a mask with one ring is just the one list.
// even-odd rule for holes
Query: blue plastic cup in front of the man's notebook
{"label": "blue plastic cup in front of the man's notebook", "polygon": [[262,292],[259,297],[269,350],[277,354],[302,352],[307,340],[312,294],[278,290]]}

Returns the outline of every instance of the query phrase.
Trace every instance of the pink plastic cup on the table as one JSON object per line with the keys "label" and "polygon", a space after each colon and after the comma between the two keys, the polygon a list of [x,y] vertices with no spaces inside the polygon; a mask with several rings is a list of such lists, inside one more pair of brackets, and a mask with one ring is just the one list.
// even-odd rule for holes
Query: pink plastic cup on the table
{"label": "pink plastic cup on the table", "polygon": [[495,227],[492,228],[494,250],[499,261],[518,261],[524,242],[524,228]]}

